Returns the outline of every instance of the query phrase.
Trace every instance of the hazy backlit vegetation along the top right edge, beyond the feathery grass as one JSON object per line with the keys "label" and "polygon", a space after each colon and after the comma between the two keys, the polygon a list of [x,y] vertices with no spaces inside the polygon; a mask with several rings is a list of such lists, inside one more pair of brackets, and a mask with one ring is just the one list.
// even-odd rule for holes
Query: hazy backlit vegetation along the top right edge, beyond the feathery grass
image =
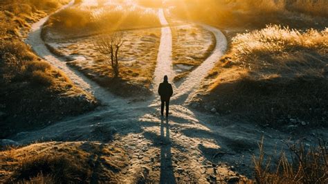
{"label": "hazy backlit vegetation along the top right edge, beyond the feathery grass", "polygon": [[[172,13],[189,20],[207,24],[248,29],[263,28],[266,24],[282,24],[292,28],[327,25],[326,0],[190,0],[172,1]],[[302,14],[300,14],[300,12]],[[311,17],[315,16],[315,17]]]}

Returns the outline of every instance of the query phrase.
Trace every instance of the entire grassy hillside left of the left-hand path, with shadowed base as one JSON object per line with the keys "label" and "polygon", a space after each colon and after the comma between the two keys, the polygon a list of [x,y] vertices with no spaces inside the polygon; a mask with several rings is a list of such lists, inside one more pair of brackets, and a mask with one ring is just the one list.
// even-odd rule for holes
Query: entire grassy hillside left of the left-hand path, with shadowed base
{"label": "entire grassy hillside left of the left-hand path, with shadowed base", "polygon": [[38,58],[21,40],[30,24],[67,2],[1,1],[0,138],[95,107],[90,94]]}

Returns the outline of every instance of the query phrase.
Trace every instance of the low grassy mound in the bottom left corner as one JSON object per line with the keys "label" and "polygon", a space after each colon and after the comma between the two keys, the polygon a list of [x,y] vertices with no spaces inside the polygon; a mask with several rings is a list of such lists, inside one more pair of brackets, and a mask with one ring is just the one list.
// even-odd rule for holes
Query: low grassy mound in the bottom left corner
{"label": "low grassy mound in the bottom left corner", "polygon": [[42,142],[0,152],[0,183],[117,183],[127,166],[118,145]]}

